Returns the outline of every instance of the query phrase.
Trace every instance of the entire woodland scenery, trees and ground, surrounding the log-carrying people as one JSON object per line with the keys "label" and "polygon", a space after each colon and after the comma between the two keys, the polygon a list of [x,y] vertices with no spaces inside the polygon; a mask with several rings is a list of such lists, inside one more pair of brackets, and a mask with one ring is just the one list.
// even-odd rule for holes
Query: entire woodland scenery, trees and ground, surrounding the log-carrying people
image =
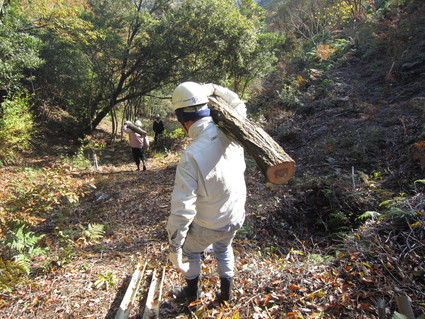
{"label": "entire woodland scenery, trees and ground, surrounding the log-carrying people", "polygon": [[[237,92],[297,171],[267,184],[246,158],[233,304],[208,307],[207,255],[197,310],[164,297],[161,317],[403,318],[401,295],[423,317],[421,0],[0,0],[0,317],[113,318],[138,260],[181,284],[164,228],[187,80]],[[121,124],[152,136],[156,113],[134,172]]]}

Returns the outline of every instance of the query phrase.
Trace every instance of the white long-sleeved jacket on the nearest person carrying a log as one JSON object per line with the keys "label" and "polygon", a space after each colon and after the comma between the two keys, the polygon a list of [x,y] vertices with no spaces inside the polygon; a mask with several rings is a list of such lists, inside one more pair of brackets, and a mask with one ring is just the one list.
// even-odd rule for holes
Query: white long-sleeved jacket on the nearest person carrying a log
{"label": "white long-sleeved jacket on the nearest person carrying a log", "polygon": [[[207,95],[219,95],[245,116],[238,96],[220,86],[204,86]],[[171,214],[167,231],[170,249],[181,248],[192,222],[208,229],[242,226],[245,219],[246,185],[244,150],[229,139],[211,117],[189,129],[193,142],[177,165]]]}

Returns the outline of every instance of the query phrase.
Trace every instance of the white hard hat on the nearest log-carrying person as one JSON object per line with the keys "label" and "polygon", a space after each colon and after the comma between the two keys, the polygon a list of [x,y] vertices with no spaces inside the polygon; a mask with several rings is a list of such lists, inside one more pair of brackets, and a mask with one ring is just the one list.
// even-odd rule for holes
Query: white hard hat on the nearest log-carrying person
{"label": "white hard hat on the nearest log-carrying person", "polygon": [[183,82],[174,89],[172,104],[173,111],[188,106],[208,103],[205,88],[195,82]]}

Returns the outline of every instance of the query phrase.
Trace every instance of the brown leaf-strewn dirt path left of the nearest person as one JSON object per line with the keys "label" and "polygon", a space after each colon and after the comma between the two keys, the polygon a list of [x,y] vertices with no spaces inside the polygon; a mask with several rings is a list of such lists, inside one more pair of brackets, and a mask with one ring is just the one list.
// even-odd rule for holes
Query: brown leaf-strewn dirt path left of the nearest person
{"label": "brown leaf-strewn dirt path left of the nearest person", "polygon": [[[81,247],[63,274],[44,278],[49,291],[44,298],[52,302],[43,302],[27,318],[114,318],[137,262],[166,264],[165,222],[173,177],[172,166],[159,161],[150,161],[146,172],[125,165],[95,175],[97,189],[75,212],[75,222],[103,224],[106,236],[99,244]],[[96,287],[101,276],[104,285]]]}

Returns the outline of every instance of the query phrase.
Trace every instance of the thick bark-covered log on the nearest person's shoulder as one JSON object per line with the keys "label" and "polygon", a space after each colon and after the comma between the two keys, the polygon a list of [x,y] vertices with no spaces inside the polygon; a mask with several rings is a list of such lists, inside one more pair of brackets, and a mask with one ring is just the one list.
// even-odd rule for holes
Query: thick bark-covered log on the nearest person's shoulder
{"label": "thick bark-covered log on the nearest person's shoulder", "polygon": [[295,161],[261,127],[230,108],[222,100],[209,98],[214,122],[251,155],[267,181],[285,184],[295,174]]}

